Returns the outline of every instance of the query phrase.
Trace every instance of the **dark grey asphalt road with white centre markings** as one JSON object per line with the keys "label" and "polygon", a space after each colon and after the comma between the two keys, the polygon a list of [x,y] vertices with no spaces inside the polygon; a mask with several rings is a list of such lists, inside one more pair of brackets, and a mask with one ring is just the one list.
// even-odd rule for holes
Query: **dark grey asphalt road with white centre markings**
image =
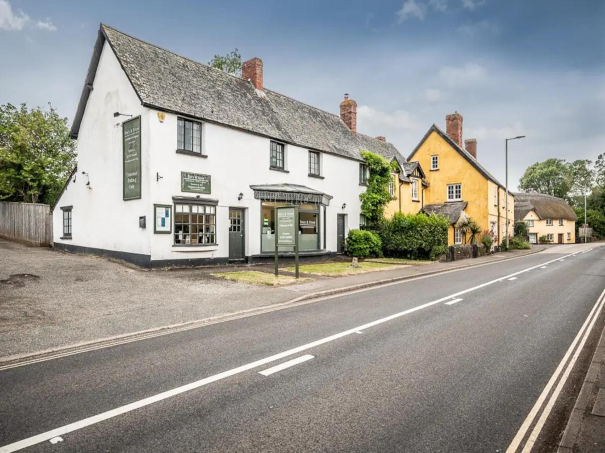
{"label": "dark grey asphalt road with white centre markings", "polygon": [[515,451],[583,327],[603,327],[605,248],[581,250],[2,370],[0,452]]}

